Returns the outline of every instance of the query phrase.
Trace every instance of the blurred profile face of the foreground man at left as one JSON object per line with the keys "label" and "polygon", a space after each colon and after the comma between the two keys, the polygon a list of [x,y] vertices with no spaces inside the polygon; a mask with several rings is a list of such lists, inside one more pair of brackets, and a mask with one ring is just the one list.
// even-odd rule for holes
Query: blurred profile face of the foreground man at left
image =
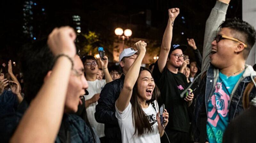
{"label": "blurred profile face of the foreground man at left", "polygon": [[74,58],[74,69],[71,71],[67,96],[65,101],[65,112],[74,113],[77,111],[78,104],[82,104],[80,96],[85,94],[88,83],[84,77],[84,65],[78,55]]}

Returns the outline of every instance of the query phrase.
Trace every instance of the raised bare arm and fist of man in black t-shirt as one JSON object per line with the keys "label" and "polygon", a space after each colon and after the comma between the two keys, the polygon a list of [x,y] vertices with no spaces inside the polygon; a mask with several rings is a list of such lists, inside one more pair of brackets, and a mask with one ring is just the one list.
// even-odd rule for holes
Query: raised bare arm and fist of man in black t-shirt
{"label": "raised bare arm and fist of man in black t-shirt", "polygon": [[167,26],[164,31],[164,36],[162,40],[161,50],[159,54],[159,59],[157,61],[159,71],[162,73],[164,70],[164,67],[167,62],[168,54],[171,49],[171,42],[172,42],[172,28],[175,18],[179,15],[180,9],[179,8],[172,8],[168,10],[169,13],[169,19]]}

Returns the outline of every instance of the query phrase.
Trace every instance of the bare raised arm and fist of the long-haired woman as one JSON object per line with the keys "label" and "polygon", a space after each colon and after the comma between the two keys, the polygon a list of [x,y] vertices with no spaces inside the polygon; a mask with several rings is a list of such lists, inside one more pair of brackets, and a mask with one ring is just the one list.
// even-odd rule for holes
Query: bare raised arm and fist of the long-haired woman
{"label": "bare raised arm and fist of the long-haired woman", "polygon": [[124,87],[121,90],[120,96],[116,100],[116,107],[118,111],[121,112],[124,111],[124,109],[130,103],[132,97],[132,89],[138,79],[140,73],[140,65],[146,54],[147,43],[145,43],[144,41],[138,41],[137,43],[135,43],[135,46],[138,49],[139,55],[132,64],[132,66],[129,68],[124,79]]}

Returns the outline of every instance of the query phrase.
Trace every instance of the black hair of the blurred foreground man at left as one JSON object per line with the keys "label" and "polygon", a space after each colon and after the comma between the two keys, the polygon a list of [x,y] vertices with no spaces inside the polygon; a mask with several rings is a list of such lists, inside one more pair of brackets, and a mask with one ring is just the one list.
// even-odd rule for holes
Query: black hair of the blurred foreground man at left
{"label": "black hair of the blurred foreground man at left", "polygon": [[23,46],[21,70],[24,78],[25,99],[28,103],[36,97],[44,83],[44,77],[54,65],[54,56],[47,40],[37,40]]}

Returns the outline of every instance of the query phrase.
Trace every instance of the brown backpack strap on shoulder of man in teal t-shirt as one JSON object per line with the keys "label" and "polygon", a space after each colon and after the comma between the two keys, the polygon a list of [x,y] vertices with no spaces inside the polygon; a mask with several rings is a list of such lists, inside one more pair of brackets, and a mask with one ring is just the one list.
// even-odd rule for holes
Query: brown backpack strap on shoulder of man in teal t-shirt
{"label": "brown backpack strap on shoulder of man in teal t-shirt", "polygon": [[[256,77],[254,78],[254,81],[256,82]],[[252,88],[254,87],[253,82],[250,82],[247,84],[245,90],[244,90],[244,94],[243,94],[243,107],[244,110],[248,109],[250,107],[250,101],[249,101],[249,95],[252,91]]]}

